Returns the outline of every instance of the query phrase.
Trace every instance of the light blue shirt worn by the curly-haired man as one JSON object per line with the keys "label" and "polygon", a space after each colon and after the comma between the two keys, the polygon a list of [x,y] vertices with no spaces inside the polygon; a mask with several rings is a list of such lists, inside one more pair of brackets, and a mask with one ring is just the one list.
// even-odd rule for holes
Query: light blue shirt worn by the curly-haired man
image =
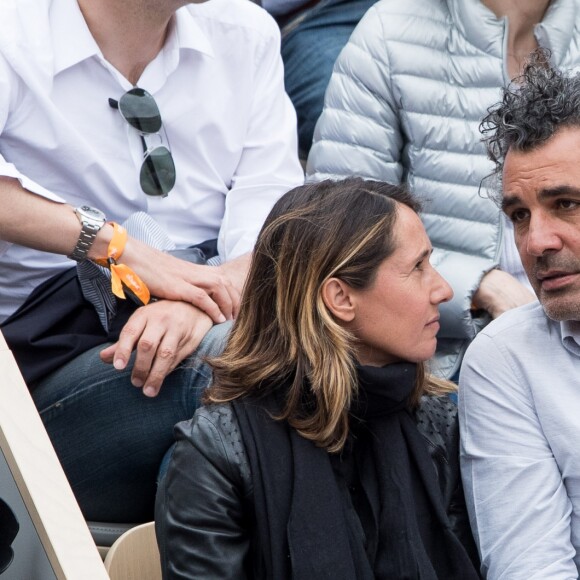
{"label": "light blue shirt worn by the curly-haired man", "polygon": [[580,323],[538,302],[473,341],[459,389],[461,470],[488,579],[580,569]]}

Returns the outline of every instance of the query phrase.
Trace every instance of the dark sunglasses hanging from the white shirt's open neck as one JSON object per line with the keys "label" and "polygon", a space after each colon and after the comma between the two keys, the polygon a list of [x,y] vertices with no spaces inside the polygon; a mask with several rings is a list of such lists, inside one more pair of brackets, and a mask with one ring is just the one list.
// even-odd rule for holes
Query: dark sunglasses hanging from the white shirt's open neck
{"label": "dark sunglasses hanging from the white shirt's open neck", "polygon": [[163,127],[161,113],[155,99],[144,89],[135,87],[118,101],[109,99],[109,106],[136,129],[143,145],[143,164],[139,172],[141,189],[147,194],[166,197],[175,185],[175,163],[165,145],[147,147],[145,135],[155,135]]}

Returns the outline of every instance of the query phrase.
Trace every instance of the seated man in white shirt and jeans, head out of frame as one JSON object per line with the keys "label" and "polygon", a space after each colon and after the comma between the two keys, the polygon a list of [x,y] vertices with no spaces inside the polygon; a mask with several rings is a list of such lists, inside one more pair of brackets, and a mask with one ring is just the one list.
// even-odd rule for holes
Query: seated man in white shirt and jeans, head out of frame
{"label": "seated man in white shirt and jeans, head out of frame", "polygon": [[110,222],[139,212],[177,250],[201,244],[217,264],[129,237],[117,262],[160,300],[104,351],[31,381],[88,519],[152,517],[173,424],[193,413],[209,380],[202,357],[227,327],[213,325],[235,316],[265,216],[303,181],[279,42],[247,0],[0,4],[6,330],[35,288],[75,266],[67,256],[106,258]]}

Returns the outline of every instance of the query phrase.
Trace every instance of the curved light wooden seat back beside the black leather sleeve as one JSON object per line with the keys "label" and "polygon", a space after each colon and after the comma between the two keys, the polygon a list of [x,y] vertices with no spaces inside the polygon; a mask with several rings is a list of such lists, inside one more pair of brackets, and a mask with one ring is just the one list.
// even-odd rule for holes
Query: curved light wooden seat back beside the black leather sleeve
{"label": "curved light wooden seat back beside the black leather sleeve", "polygon": [[105,558],[111,580],[161,580],[155,523],[141,524],[120,536]]}

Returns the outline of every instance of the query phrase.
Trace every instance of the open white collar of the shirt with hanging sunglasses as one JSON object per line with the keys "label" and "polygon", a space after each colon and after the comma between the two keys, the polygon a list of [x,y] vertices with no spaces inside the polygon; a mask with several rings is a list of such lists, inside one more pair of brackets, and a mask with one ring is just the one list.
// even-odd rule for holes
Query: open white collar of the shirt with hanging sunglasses
{"label": "open white collar of the shirt with hanging sunglasses", "polygon": [[[207,35],[195,20],[194,12],[195,7],[188,6],[176,12],[175,26],[164,50],[190,49],[208,56],[214,55]],[[49,18],[53,31],[55,75],[94,56],[104,58],[76,0],[54,0]]]}

